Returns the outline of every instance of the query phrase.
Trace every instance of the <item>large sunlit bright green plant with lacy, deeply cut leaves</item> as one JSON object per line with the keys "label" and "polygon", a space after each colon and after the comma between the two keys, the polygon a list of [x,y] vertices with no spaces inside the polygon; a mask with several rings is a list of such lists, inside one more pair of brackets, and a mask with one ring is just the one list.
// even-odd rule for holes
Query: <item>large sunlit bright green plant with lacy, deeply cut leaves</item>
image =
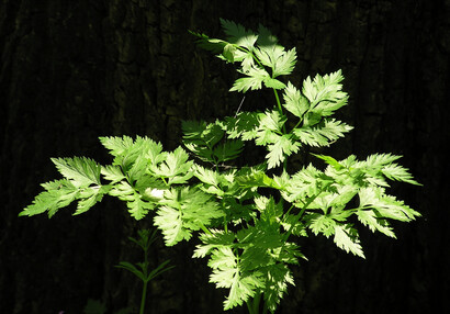
{"label": "large sunlit bright green plant with lacy, deeply cut leaves", "polygon": [[[295,237],[322,234],[364,258],[355,223],[395,237],[389,221],[409,222],[419,213],[387,194],[387,180],[418,183],[396,164],[401,156],[391,154],[364,160],[313,154],[324,169],[312,162],[294,169],[288,162],[292,155],[329,146],[352,128],[333,117],[348,101],[341,71],[307,77],[297,88],[283,79],[294,69],[295,48],[286,51],[263,26],[252,32],[225,20],[222,26],[226,40],[192,34],[237,65],[243,77],[230,91],[271,89],[273,108],[183,122],[190,153],[164,152],[148,137],[101,137],[114,157],[111,165],[52,159],[64,179],[44,183],[45,191],[20,215],[53,216],[74,201],[75,214],[81,214],[103,195],[116,197],[136,220],[155,214],[167,246],[198,236],[193,257],[207,257],[210,282],[229,289],[224,310],[246,303],[250,314],[273,313],[294,284],[290,265],[305,259]],[[266,149],[265,158],[240,167],[237,158],[252,144]]]}

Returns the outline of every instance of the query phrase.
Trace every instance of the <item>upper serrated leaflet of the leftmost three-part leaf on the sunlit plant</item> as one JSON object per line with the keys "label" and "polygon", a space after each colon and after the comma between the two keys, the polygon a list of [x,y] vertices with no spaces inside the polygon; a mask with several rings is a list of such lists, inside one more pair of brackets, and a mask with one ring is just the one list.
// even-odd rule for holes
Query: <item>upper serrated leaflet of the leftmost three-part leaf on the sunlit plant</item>
{"label": "upper serrated leaflet of the leftmost three-part leaf on the sunlit plant", "polygon": [[100,186],[101,166],[86,157],[52,158],[58,171],[76,187]]}

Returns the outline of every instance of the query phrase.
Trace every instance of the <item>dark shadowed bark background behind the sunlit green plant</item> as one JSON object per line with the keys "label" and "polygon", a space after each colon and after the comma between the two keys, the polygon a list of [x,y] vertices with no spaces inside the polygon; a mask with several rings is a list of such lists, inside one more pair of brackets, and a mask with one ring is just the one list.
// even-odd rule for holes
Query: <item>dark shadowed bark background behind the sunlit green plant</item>
{"label": "dark shadowed bark background behind the sunlit green plant", "polygon": [[[233,66],[188,34],[221,36],[220,18],[262,23],[295,46],[295,83],[341,68],[350,102],[340,117],[356,130],[334,156],[401,154],[424,183],[393,187],[424,215],[394,224],[397,240],[360,228],[365,260],[311,237],[310,261],[294,268],[279,313],[449,313],[443,0],[1,0],[0,313],[78,314],[88,299],[111,311],[137,306],[140,283],[113,265],[140,260],[126,237],[149,220],[133,221],[112,199],[76,217],[72,206],[52,220],[18,213],[58,178],[50,157],[109,162],[97,139],[104,135],[148,135],[173,149],[181,119],[234,114]],[[266,102],[250,92],[244,110]],[[205,260],[191,259],[193,245],[154,246],[151,262],[170,258],[177,268],[150,284],[148,313],[221,313],[224,291],[207,282]]]}

